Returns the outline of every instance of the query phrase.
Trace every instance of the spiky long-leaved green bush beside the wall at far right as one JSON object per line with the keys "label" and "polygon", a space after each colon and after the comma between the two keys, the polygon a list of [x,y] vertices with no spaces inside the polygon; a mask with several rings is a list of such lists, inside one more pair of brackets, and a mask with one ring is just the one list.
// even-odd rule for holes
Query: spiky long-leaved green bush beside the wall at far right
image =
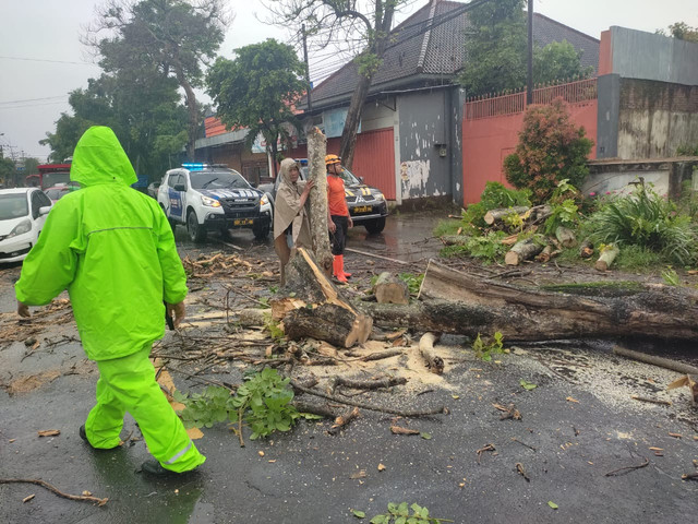
{"label": "spiky long-leaved green bush beside the wall at far right", "polygon": [[638,246],[682,265],[696,262],[698,235],[691,218],[643,183],[594,213],[590,226],[598,242]]}

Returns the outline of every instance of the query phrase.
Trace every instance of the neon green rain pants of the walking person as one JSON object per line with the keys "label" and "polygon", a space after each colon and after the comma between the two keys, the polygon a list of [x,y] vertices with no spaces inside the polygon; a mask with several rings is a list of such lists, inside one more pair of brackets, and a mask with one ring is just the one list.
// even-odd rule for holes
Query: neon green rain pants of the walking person
{"label": "neon green rain pants of the walking person", "polygon": [[151,345],[127,357],[97,362],[97,405],[85,421],[94,448],[119,445],[123,416],[129,412],[143,432],[151,454],[166,469],[182,473],[203,464],[202,455],[155,380]]}

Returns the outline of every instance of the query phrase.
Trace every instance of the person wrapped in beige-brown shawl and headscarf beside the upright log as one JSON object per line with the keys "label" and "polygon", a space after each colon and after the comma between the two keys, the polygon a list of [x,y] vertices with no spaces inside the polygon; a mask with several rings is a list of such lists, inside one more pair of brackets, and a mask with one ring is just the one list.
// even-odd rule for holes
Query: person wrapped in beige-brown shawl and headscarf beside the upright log
{"label": "person wrapped in beige-brown shawl and headscarf beside the upright log", "polygon": [[281,160],[281,181],[274,209],[274,250],[281,261],[281,286],[286,284],[286,264],[291,249],[312,245],[305,201],[314,181],[299,181],[300,168],[292,158]]}

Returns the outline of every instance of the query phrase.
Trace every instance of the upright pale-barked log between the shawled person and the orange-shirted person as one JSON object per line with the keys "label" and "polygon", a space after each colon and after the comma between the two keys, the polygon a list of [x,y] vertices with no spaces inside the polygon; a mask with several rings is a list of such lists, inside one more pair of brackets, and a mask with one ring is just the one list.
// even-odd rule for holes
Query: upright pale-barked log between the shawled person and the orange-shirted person
{"label": "upright pale-barked log between the shawled person and the orange-shirted person", "polygon": [[313,254],[326,275],[332,275],[332,248],[327,224],[327,139],[317,128],[308,133],[308,179],[315,180],[310,190],[310,230]]}

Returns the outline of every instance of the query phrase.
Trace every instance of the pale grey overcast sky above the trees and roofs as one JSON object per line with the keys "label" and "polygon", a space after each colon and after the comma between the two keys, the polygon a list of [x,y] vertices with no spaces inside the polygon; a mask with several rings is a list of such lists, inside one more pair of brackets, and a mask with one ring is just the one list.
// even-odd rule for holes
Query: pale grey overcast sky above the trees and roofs
{"label": "pale grey overcast sky above the trees and roofs", "polygon": [[[268,13],[260,0],[228,0],[234,20],[220,53],[288,35],[260,22]],[[94,19],[96,0],[3,0],[0,31],[0,144],[7,156],[46,159],[49,148],[38,141],[53,132],[61,112],[70,111],[68,94],[100,74],[80,43]],[[416,0],[400,20],[429,3]],[[683,21],[698,26],[697,0],[535,0],[535,11],[599,38],[611,25],[654,32]],[[336,59],[335,59],[336,61]],[[313,66],[315,63],[315,66]],[[326,73],[328,57],[311,57],[311,76]],[[313,72],[313,67],[316,69]]]}

